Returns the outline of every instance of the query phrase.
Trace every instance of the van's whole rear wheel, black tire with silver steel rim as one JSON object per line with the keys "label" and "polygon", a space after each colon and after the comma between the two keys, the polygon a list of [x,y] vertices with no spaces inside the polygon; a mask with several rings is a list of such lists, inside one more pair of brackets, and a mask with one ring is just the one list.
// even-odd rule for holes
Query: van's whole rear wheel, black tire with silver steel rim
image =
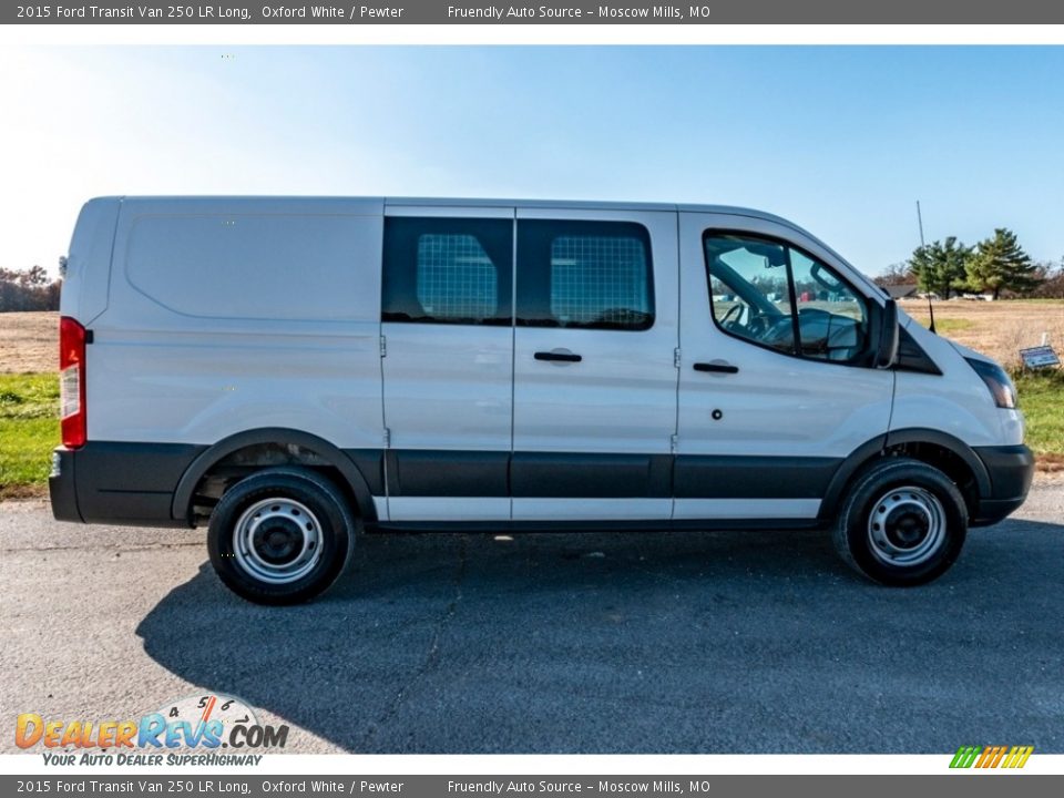
{"label": "van's whole rear wheel, black tire with silver steel rim", "polygon": [[337,487],[310,470],[266,469],[229,488],[211,514],[207,551],[225,585],[256,604],[298,604],[327,590],[355,546]]}

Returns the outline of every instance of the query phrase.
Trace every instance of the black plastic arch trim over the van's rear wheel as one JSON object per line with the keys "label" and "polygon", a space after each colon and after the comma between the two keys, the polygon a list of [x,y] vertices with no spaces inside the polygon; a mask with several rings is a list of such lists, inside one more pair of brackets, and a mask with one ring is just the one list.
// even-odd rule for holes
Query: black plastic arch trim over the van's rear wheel
{"label": "black plastic arch trim over the van's rear wheel", "polygon": [[222,459],[241,449],[259,443],[298,446],[304,449],[309,449],[321,459],[328,461],[330,466],[340,472],[347,482],[347,487],[349,487],[355,494],[358,507],[351,508],[351,511],[357,512],[367,523],[377,521],[377,510],[374,505],[369,483],[358,466],[356,466],[344,451],[327,440],[309,432],[284,427],[266,427],[237,432],[228,438],[223,438],[201,453],[185,470],[181,481],[177,483],[177,489],[174,491],[174,501],[171,508],[171,513],[174,519],[184,520],[191,524],[192,499],[196,485],[200,484],[200,480]]}

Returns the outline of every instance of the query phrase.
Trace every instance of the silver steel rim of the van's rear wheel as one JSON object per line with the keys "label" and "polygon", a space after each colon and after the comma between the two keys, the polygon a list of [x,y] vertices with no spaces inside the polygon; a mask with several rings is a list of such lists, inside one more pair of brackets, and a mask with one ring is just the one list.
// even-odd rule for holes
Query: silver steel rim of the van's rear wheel
{"label": "silver steel rim of the van's rear wheel", "polygon": [[321,524],[306,504],[275,498],[255,502],[233,530],[233,556],[250,576],[289,584],[321,560]]}

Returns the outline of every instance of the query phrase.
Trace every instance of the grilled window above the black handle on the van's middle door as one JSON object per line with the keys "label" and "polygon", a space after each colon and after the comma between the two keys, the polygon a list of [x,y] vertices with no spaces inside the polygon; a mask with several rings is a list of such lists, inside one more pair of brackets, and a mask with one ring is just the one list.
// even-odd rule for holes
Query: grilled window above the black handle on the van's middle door
{"label": "grilled window above the black handle on the van's middle door", "polygon": [[519,222],[518,324],[649,328],[654,279],[646,228],[631,222]]}

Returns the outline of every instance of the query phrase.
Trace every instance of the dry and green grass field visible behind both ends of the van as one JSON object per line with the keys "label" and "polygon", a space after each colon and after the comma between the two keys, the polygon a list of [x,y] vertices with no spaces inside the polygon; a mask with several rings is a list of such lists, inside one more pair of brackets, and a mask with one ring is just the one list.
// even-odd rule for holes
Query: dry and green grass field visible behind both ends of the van
{"label": "dry and green grass field visible behind both ends of the van", "polygon": [[[901,307],[927,325],[925,303]],[[941,335],[1013,370],[1039,469],[1064,474],[1064,370],[1019,371],[1019,350],[1043,335],[1064,355],[1064,300],[937,303],[934,319]],[[53,313],[0,314],[0,498],[44,490],[59,442],[58,326]]]}

